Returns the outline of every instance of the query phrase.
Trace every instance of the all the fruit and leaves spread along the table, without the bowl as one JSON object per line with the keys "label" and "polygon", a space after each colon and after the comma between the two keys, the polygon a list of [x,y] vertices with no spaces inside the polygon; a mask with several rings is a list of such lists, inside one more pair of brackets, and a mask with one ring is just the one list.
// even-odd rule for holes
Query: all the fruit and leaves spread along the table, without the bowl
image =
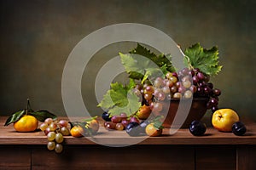
{"label": "all the fruit and leaves spread along the table, without the bowl", "polygon": [[[140,44],[129,54],[120,53],[119,56],[130,82],[125,85],[111,83],[111,88],[98,105],[104,110],[102,119],[106,129],[125,130],[133,137],[160,136],[166,103],[172,99],[203,98],[207,99],[205,107],[212,111],[213,127],[236,135],[246,133],[247,129],[236,111],[218,109],[221,91],[210,82],[210,77],[217,75],[222,68],[218,61],[218,48],[205,49],[197,43],[185,49],[183,60],[187,67],[180,70],[173,67],[170,54],[156,55]],[[29,100],[26,110],[9,116],[4,126],[14,123],[17,132],[34,132],[38,122],[42,122],[39,128],[47,136],[47,148],[56,153],[63,150],[64,136],[91,136],[100,127],[96,117],[68,122],[57,120],[57,116],[49,111],[33,111]],[[195,136],[204,135],[206,131],[206,124],[200,120],[191,122],[189,126],[189,132]]]}

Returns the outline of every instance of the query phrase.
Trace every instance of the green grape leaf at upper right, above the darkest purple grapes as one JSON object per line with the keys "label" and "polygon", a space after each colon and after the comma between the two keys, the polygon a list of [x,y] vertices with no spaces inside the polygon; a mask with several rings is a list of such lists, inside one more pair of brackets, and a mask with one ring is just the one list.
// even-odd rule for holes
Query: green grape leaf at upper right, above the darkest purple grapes
{"label": "green grape leaf at upper right, above the darkest purple grapes", "polygon": [[222,65],[219,65],[218,47],[210,49],[202,48],[200,43],[195,43],[185,49],[184,64],[192,65],[194,68],[199,68],[202,72],[209,76],[217,75],[221,71]]}

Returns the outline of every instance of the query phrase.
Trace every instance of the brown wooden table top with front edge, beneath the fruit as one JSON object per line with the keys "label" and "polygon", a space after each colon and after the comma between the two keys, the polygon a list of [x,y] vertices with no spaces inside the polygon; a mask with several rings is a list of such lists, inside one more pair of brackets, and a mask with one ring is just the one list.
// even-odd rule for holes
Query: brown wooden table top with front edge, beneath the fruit
{"label": "brown wooden table top with front edge, beneath the fruit", "polygon": [[[17,133],[10,124],[4,127],[7,116],[0,116],[0,144],[47,144],[46,136],[39,129],[33,133]],[[109,131],[100,127],[99,132],[90,138],[65,137],[66,144],[256,144],[256,123],[246,123],[247,133],[236,136],[233,133],[221,133],[213,127],[207,127],[204,136],[195,137],[188,128],[178,129],[170,134],[170,129],[164,129],[160,137],[130,137],[125,131]]]}

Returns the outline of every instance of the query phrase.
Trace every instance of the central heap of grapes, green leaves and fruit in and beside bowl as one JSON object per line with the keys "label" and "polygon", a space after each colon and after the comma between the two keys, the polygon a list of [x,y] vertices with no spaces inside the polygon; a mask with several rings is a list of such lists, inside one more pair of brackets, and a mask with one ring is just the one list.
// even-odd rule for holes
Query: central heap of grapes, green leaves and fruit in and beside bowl
{"label": "central heap of grapes, green leaves and fruit in and beside bowl", "polygon": [[129,123],[147,120],[154,130],[161,131],[166,104],[170,105],[172,99],[204,98],[208,100],[207,109],[212,113],[218,110],[221,91],[209,82],[222,67],[218,65],[218,48],[204,49],[199,43],[187,48],[183,54],[187,67],[179,71],[173,67],[170,54],[156,55],[140,44],[129,54],[119,55],[130,82],[112,83],[98,105],[106,111],[102,118],[108,129],[123,130]]}

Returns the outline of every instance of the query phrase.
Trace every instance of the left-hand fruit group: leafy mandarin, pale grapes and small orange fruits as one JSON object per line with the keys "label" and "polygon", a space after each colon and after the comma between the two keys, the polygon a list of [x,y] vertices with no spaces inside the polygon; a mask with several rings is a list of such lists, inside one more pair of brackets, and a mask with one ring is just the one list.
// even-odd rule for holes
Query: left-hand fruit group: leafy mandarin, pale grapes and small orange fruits
{"label": "left-hand fruit group: leafy mandarin, pale grapes and small orange fruits", "polygon": [[49,111],[33,111],[29,99],[27,99],[26,110],[17,111],[9,116],[4,126],[14,123],[17,132],[29,133],[35,132],[38,129],[38,122],[42,122],[39,128],[47,136],[48,150],[61,153],[64,136],[82,137],[94,135],[98,132],[100,126],[96,117],[84,119],[81,122],[57,120],[57,116]]}

